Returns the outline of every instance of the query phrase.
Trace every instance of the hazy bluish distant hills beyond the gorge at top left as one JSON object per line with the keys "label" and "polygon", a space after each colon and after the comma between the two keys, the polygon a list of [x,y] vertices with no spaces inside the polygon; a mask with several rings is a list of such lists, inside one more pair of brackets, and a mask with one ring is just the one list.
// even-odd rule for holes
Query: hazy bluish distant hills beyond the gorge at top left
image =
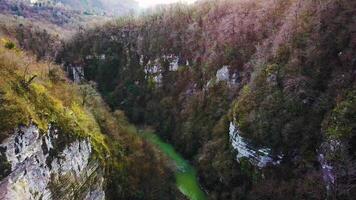
{"label": "hazy bluish distant hills beyond the gorge at top left", "polygon": [[21,25],[66,37],[133,12],[136,4],[134,0],[0,0],[0,31],[17,35]]}

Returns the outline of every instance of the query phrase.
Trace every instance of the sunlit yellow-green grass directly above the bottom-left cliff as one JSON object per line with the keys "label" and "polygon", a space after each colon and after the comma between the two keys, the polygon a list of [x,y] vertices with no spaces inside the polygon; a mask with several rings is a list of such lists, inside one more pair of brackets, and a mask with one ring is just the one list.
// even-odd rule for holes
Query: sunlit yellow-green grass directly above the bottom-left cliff
{"label": "sunlit yellow-green grass directly above the bottom-left cliff", "polygon": [[[49,124],[55,124],[62,134],[89,138],[95,155],[102,161],[106,161],[111,154],[118,154],[114,151],[120,148],[110,148],[110,145],[119,146],[114,144],[117,141],[109,138],[118,132],[125,132],[126,127],[130,129],[128,132],[132,131],[123,115],[117,114],[116,117],[121,119],[115,119],[100,97],[92,97],[90,105],[83,105],[80,87],[67,80],[59,66],[34,62],[34,58],[15,47],[7,48],[8,39],[1,41],[1,140],[18,125],[34,123],[45,133]],[[98,120],[99,111],[107,117],[106,120]],[[110,123],[111,127],[108,127]],[[102,132],[112,127],[120,130],[111,134]]]}

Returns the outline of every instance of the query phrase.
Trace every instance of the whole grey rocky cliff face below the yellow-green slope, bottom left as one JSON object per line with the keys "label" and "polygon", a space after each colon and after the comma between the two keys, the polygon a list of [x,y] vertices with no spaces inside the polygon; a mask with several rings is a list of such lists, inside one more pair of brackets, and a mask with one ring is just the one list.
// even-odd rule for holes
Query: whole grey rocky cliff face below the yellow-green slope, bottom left
{"label": "whole grey rocky cliff face below the yellow-green slope, bottom left", "polygon": [[0,145],[0,199],[105,199],[88,139],[22,126]]}

